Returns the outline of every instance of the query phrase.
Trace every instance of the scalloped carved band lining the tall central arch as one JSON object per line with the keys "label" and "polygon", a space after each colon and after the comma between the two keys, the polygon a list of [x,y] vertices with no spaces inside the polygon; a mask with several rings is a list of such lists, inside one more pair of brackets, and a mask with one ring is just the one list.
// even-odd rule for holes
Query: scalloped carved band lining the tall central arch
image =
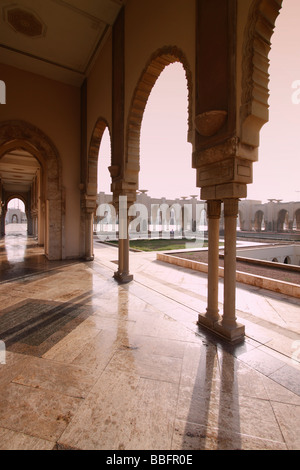
{"label": "scalloped carved band lining the tall central arch", "polygon": [[156,80],[164,68],[175,62],[180,62],[185,70],[188,86],[188,128],[192,124],[192,73],[184,53],[176,46],[166,46],[157,50],[148,61],[137,87],[134,91],[130,106],[126,134],[126,182],[132,186],[132,191],[138,188],[140,170],[140,133],[145,107]]}

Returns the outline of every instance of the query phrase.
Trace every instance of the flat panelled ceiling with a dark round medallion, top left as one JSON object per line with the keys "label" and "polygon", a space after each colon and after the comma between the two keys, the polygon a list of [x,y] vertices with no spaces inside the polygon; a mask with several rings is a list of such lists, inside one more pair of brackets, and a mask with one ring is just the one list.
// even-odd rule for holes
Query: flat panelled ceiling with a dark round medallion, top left
{"label": "flat panelled ceiling with a dark round medallion, top left", "polygon": [[0,0],[0,60],[81,86],[124,3]]}

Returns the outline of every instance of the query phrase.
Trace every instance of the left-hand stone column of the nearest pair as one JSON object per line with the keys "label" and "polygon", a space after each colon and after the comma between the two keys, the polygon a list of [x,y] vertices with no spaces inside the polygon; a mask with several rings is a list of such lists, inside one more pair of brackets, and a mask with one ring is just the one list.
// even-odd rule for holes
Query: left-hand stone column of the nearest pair
{"label": "left-hand stone column of the nearest pair", "polygon": [[207,309],[204,315],[199,314],[198,324],[213,327],[219,320],[218,285],[219,285],[219,230],[221,201],[207,201],[208,219],[208,290]]}

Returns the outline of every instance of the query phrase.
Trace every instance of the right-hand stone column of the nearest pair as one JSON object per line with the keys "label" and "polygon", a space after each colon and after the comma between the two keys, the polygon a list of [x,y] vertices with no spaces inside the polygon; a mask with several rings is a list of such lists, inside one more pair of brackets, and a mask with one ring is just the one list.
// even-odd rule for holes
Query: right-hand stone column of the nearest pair
{"label": "right-hand stone column of the nearest pair", "polygon": [[231,341],[241,340],[245,327],[236,321],[236,224],[239,200],[224,200],[225,255],[224,255],[224,311],[216,329]]}

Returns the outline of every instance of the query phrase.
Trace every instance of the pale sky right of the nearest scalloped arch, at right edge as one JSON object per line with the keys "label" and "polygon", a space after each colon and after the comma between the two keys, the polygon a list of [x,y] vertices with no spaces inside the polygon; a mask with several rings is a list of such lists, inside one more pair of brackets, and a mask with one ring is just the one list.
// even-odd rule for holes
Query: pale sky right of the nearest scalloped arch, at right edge
{"label": "pale sky right of the nearest scalloped arch, at right edge", "polygon": [[[254,183],[248,198],[276,198],[300,201],[300,1],[283,0],[276,21],[270,53],[270,119],[261,130],[259,161],[254,167]],[[299,191],[299,192],[298,192]]]}

